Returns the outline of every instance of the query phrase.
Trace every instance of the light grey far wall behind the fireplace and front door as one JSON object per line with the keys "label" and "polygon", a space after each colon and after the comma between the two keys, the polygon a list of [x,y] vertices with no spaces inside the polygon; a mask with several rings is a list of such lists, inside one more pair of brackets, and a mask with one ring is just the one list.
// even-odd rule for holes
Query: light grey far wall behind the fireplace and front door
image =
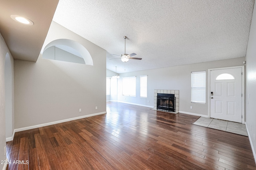
{"label": "light grey far wall behind the fireplace and front door", "polygon": [[[212,61],[198,64],[188,64],[138,72],[120,74],[118,79],[118,101],[140,104],[143,106],[154,106],[154,89],[180,90],[180,107],[182,113],[194,113],[208,115],[208,68],[221,68],[228,66],[241,66],[245,57]],[[206,70],[206,104],[191,103],[191,72]],[[140,76],[148,75],[148,97],[140,98]],[[122,77],[136,76],[136,97],[122,96]],[[193,109],[190,109],[190,106]]]}

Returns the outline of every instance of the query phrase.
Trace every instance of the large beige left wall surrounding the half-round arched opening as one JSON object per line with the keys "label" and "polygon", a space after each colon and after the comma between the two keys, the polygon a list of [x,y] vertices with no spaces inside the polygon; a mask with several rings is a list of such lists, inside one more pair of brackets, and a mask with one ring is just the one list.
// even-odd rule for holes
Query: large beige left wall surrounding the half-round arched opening
{"label": "large beige left wall surrounding the half-round arched opening", "polygon": [[93,66],[43,59],[42,54],[36,63],[15,60],[15,129],[106,112],[106,51],[54,26],[58,32],[49,30],[51,38],[80,43],[92,56]]}

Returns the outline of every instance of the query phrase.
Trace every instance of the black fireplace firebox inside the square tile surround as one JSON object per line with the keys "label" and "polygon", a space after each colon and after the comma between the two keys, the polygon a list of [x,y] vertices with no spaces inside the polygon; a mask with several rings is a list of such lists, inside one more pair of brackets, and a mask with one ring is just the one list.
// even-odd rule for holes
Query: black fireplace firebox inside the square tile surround
{"label": "black fireplace firebox inside the square tile surround", "polygon": [[158,93],[156,98],[156,109],[175,112],[175,100],[174,94]]}

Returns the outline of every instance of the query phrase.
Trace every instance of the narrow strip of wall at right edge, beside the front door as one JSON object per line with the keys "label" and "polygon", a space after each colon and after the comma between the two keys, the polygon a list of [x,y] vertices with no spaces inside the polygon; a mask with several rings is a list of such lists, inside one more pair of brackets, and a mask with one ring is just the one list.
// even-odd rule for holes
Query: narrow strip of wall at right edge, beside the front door
{"label": "narrow strip of wall at right edge, beside the front door", "polygon": [[246,126],[256,160],[256,3],[246,52]]}

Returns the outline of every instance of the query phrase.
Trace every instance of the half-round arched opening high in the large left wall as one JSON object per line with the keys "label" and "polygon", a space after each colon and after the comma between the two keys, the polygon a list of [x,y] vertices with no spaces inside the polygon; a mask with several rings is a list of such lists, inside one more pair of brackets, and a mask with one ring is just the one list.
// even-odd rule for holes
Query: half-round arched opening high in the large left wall
{"label": "half-round arched opening high in the large left wall", "polygon": [[[92,57],[91,57],[89,51],[83,45],[81,45],[80,43],[78,43],[76,41],[73,41],[71,39],[56,39],[56,40],[51,41],[50,43],[48,43],[44,48],[43,58],[44,59],[51,59],[49,56],[46,56],[46,55],[49,54],[50,49],[51,49],[51,51],[54,51],[53,52],[54,53],[53,54],[54,58],[55,58],[55,51],[56,50],[66,51],[66,52],[70,53],[68,50],[58,48],[60,46],[63,46],[63,47],[66,46],[69,49],[73,49],[74,51],[76,51],[77,55],[76,54],[72,55],[74,57],[73,60],[71,58],[69,58],[69,59],[64,58],[64,56],[62,56],[62,58],[59,58],[59,59],[56,59],[56,60],[68,61],[68,62],[72,62],[72,63],[80,63],[80,64],[86,64],[86,65],[93,65]],[[79,59],[80,57],[83,59],[83,61],[81,61]]]}

